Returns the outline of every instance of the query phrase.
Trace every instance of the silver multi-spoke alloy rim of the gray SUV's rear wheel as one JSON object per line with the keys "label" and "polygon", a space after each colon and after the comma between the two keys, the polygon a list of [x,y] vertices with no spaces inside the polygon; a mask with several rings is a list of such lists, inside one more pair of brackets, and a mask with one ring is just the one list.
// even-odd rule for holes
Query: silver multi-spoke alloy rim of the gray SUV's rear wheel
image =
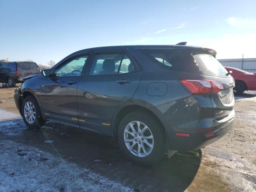
{"label": "silver multi-spoke alloy rim of the gray SUV's rear wheel", "polygon": [[127,149],[137,157],[148,156],[154,148],[154,137],[150,128],[140,121],[132,121],[126,126],[124,142]]}

